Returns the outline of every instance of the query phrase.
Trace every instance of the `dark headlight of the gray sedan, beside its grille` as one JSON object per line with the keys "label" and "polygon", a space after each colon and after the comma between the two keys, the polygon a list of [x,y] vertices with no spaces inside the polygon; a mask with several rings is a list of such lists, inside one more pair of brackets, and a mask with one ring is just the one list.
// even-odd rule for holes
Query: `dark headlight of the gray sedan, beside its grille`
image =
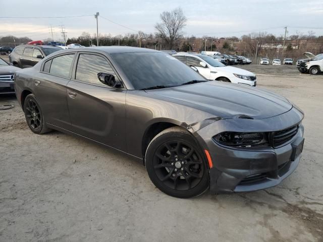
{"label": "dark headlight of the gray sedan, beside its grille", "polygon": [[254,147],[267,145],[263,133],[237,133],[223,132],[213,137],[213,140],[221,145],[234,147]]}

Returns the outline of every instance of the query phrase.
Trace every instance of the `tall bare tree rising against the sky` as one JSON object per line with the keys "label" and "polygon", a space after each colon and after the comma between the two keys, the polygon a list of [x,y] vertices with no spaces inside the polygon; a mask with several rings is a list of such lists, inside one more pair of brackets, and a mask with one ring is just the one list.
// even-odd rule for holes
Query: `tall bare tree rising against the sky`
{"label": "tall bare tree rising against the sky", "polygon": [[175,41],[182,37],[181,30],[185,27],[187,18],[181,8],[174,9],[172,12],[160,14],[161,23],[155,25],[160,38],[164,39],[169,48],[172,49]]}

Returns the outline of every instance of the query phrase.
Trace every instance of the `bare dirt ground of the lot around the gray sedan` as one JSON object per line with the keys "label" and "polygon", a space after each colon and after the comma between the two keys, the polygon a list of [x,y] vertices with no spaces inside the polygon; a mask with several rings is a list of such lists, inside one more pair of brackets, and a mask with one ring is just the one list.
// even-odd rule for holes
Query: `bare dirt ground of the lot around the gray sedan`
{"label": "bare dirt ground of the lot around the gray sedan", "polygon": [[159,192],[133,158],[33,134],[15,97],[0,97],[15,105],[0,110],[0,241],[323,241],[323,76],[274,73],[257,75],[257,88],[306,114],[296,171],[264,191],[187,200]]}

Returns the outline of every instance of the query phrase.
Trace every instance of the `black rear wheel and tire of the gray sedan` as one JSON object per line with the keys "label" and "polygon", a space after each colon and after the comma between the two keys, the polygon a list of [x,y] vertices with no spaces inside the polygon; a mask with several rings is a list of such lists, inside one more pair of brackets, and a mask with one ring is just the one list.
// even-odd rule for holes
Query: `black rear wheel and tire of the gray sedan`
{"label": "black rear wheel and tire of the gray sedan", "polygon": [[51,131],[44,123],[43,114],[34,94],[29,94],[24,101],[24,112],[29,129],[35,134]]}

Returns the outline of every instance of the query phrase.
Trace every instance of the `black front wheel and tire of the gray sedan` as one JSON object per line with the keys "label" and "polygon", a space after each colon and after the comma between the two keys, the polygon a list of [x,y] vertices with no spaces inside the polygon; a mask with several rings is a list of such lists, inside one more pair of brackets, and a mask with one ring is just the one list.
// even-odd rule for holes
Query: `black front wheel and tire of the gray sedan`
{"label": "black front wheel and tire of the gray sedan", "polygon": [[194,138],[181,127],[166,129],[151,140],[145,166],[152,183],[172,197],[196,197],[209,186],[204,155]]}

